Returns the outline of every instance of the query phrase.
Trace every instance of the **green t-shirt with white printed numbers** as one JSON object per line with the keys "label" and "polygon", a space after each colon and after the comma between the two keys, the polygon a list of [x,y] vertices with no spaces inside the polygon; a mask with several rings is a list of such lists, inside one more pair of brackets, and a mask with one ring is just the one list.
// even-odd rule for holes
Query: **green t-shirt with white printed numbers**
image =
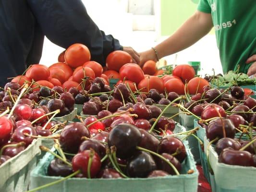
{"label": "green t-shirt with white printed numbers", "polygon": [[211,13],[223,72],[247,73],[256,54],[256,0],[200,0],[197,10]]}

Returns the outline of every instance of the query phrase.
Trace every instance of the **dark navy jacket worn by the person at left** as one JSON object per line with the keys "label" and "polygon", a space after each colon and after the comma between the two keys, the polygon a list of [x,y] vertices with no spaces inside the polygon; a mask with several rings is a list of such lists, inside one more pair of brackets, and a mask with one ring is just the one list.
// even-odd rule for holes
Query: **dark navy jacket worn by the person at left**
{"label": "dark navy jacket worn by the person at left", "polygon": [[[0,0],[0,85],[38,63],[44,36],[62,48],[85,44],[91,60],[105,65],[122,46],[92,21],[81,0]],[[55,56],[57,57],[57,56]]]}

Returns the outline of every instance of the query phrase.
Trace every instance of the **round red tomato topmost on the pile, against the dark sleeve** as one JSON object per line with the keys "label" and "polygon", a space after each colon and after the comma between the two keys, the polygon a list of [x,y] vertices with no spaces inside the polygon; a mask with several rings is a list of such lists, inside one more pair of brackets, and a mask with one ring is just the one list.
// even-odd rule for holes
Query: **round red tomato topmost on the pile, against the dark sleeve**
{"label": "round red tomato topmost on the pile, against the dark sleeve", "polygon": [[71,45],[65,52],[65,61],[72,68],[82,66],[89,60],[91,60],[90,51],[85,45],[81,43],[75,43]]}

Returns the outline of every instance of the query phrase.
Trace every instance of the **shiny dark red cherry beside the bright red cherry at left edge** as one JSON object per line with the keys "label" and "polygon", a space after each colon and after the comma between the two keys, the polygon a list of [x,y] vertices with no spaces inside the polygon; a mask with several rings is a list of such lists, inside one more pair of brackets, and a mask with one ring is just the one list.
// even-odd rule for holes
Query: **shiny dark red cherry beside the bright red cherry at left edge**
{"label": "shiny dark red cherry beside the bright red cherry at left edge", "polygon": [[30,135],[35,135],[37,136],[37,131],[34,127],[31,126],[20,126],[15,129],[15,131],[12,134],[11,141],[12,142],[25,142],[25,146],[28,146],[29,144],[32,143],[32,141],[35,139],[34,137],[31,136],[26,136],[24,133],[28,133]]}

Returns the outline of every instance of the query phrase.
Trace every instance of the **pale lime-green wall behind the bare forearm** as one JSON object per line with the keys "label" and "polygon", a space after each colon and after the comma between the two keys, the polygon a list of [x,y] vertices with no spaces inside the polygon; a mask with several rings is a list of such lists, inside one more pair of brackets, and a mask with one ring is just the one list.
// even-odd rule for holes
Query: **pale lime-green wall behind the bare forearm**
{"label": "pale lime-green wall behind the bare forearm", "polygon": [[175,32],[196,11],[198,1],[161,0],[161,35],[170,36]]}

